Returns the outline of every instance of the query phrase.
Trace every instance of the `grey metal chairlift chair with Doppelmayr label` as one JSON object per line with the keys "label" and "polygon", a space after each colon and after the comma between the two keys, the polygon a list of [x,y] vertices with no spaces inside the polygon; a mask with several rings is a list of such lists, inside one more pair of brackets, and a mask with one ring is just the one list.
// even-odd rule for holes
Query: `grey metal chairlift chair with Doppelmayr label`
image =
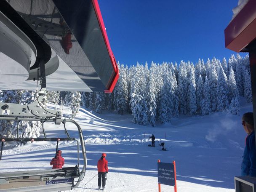
{"label": "grey metal chairlift chair with Doppelmayr label", "polygon": [[[43,98],[43,94],[40,93],[38,99],[29,105],[19,105],[19,104],[7,104],[1,103],[1,109],[4,108],[5,115],[0,115],[0,120],[31,120],[31,121],[41,121],[43,129],[43,138],[19,138],[19,124],[17,124],[17,137],[16,138],[0,138],[1,139],[1,153],[0,159],[2,159],[2,150],[4,142],[13,141],[57,141],[56,152],[58,150],[59,141],[76,141],[77,142],[77,165],[74,167],[65,167],[62,169],[48,169],[48,170],[37,170],[37,171],[16,171],[9,173],[0,173],[0,192],[29,192],[29,191],[56,191],[56,190],[71,190],[77,187],[85,176],[86,169],[86,151],[85,143],[83,139],[83,132],[74,120],[69,118],[63,118],[60,111],[53,109],[43,109],[35,107],[35,103],[40,102]],[[8,105],[8,107],[7,107]],[[26,107],[26,108],[24,108]],[[26,110],[25,110],[26,109]],[[24,112],[29,110],[28,113]],[[55,115],[54,115],[55,114]],[[67,137],[65,138],[48,138],[43,127],[45,122],[54,122],[59,125],[63,123],[65,133]],[[78,139],[69,136],[65,123],[70,122],[76,125],[80,136],[80,142]],[[83,155],[83,168],[80,171],[80,144]],[[75,181],[77,178],[77,181]],[[35,188],[36,187],[36,188]]]}

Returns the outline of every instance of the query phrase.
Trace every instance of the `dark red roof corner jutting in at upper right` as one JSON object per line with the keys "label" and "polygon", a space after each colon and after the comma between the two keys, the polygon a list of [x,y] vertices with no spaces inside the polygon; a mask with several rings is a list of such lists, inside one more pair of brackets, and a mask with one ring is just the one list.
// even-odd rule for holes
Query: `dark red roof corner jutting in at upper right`
{"label": "dark red roof corner jutting in at upper right", "polygon": [[256,0],[249,0],[225,29],[225,46],[240,52],[256,39]]}

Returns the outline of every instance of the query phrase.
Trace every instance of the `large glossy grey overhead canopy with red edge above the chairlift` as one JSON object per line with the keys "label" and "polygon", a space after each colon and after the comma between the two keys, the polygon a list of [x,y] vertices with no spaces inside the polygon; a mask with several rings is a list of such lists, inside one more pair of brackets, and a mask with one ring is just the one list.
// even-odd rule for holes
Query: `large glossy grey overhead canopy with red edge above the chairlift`
{"label": "large glossy grey overhead canopy with red edge above the chairlift", "polygon": [[112,92],[118,68],[97,0],[1,0],[0,89]]}

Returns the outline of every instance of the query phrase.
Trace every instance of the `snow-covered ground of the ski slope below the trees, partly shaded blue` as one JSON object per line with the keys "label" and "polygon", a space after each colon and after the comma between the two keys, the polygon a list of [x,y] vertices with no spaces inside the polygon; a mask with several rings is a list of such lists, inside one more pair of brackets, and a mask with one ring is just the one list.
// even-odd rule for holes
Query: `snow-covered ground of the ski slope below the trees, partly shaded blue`
{"label": "snow-covered ground of the ski slope below the trees, partly shaded blue", "polygon": [[[244,104],[241,115],[249,111],[252,111],[251,104]],[[70,115],[68,108],[64,107],[63,112]],[[109,162],[105,191],[158,191],[157,160],[160,159],[165,163],[176,161],[178,192],[234,192],[234,176],[240,174],[246,136],[241,115],[215,113],[205,117],[179,117],[153,128],[134,125],[131,115],[107,112],[99,115],[81,108],[75,120],[83,129],[88,167],[82,183],[73,191],[97,189],[97,177],[88,181],[97,174],[97,161],[105,152]],[[48,123],[44,127],[48,137],[62,137],[62,126]],[[78,138],[74,125],[67,123],[67,128],[72,137]],[[148,147],[151,134],[156,137],[156,147]],[[168,151],[160,150],[160,139]],[[7,146],[0,171],[51,168],[49,163],[55,147],[56,143],[46,141],[13,149]],[[77,164],[75,142],[61,142],[59,149],[65,158],[64,166]],[[161,185],[161,189],[162,192],[174,191],[166,185]]]}

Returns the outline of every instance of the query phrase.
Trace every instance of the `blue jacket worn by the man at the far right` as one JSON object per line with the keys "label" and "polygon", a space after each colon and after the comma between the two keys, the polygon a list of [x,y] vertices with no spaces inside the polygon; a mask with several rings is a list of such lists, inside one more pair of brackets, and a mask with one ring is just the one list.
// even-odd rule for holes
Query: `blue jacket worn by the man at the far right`
{"label": "blue jacket worn by the man at the far right", "polygon": [[242,176],[256,176],[256,146],[254,131],[246,137],[241,168]]}

